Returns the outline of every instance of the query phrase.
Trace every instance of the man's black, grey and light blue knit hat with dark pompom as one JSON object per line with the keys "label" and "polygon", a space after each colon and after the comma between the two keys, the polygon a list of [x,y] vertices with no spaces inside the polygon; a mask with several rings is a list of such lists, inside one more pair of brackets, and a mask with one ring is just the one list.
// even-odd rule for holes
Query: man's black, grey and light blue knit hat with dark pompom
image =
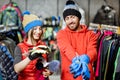
{"label": "man's black, grey and light blue knit hat with dark pompom", "polygon": [[79,19],[81,19],[81,13],[79,12],[79,8],[73,0],[68,0],[63,10],[63,18],[65,19],[65,17],[68,15],[75,15]]}

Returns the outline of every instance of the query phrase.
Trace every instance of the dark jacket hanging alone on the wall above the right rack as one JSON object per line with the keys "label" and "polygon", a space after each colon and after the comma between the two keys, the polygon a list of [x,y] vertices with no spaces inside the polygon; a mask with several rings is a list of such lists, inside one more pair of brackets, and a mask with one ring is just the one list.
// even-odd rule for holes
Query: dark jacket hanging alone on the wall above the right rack
{"label": "dark jacket hanging alone on the wall above the right rack", "polygon": [[109,5],[103,5],[97,11],[93,23],[118,26],[116,11]]}

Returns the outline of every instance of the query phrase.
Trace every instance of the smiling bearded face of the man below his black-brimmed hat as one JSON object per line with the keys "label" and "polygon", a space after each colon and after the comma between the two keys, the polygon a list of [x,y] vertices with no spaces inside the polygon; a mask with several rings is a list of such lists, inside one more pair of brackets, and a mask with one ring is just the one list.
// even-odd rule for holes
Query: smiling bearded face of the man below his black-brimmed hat
{"label": "smiling bearded face of the man below his black-brimmed hat", "polygon": [[65,18],[66,25],[72,31],[78,30],[79,27],[79,18],[74,15],[69,15]]}

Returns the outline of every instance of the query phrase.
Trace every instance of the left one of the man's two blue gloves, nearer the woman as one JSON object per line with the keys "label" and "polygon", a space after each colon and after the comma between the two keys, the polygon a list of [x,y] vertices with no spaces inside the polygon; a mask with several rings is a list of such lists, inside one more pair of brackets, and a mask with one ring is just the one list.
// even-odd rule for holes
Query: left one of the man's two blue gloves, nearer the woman
{"label": "left one of the man's two blue gloves, nearer the woman", "polygon": [[74,78],[77,78],[79,75],[81,75],[81,63],[80,63],[80,57],[76,56],[72,60],[72,64],[70,65],[70,72],[73,74]]}

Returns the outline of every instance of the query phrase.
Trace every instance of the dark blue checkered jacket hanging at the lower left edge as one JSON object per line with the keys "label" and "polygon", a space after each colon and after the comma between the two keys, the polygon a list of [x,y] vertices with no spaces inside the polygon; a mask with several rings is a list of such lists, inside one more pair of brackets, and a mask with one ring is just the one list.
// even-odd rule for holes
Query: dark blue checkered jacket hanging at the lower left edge
{"label": "dark blue checkered jacket hanging at the lower left edge", "polygon": [[3,80],[17,80],[17,73],[13,67],[13,57],[8,48],[0,44],[0,69]]}

